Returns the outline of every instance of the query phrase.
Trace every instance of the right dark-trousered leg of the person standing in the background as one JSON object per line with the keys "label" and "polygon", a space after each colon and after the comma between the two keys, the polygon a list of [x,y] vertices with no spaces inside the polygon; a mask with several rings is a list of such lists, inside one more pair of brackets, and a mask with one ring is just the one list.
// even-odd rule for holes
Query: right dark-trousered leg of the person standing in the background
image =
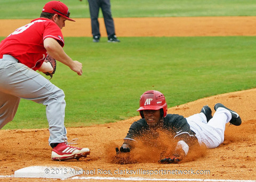
{"label": "right dark-trousered leg of the person standing in the background", "polygon": [[101,10],[105,22],[105,27],[107,30],[108,37],[115,35],[115,26],[114,20],[112,18],[111,9],[110,9],[110,0],[101,1]]}

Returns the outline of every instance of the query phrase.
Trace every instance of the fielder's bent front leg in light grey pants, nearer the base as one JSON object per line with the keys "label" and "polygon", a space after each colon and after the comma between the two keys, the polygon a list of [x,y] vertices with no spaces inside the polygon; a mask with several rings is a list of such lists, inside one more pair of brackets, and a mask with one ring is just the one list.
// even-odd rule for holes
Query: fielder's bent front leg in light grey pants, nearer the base
{"label": "fielder's bent front leg in light grey pants, nearer the base", "polygon": [[49,144],[64,142],[63,138],[67,139],[67,131],[64,126],[66,102],[63,91],[38,72],[17,63],[14,58],[1,61],[0,64],[4,65],[4,69],[0,71],[0,85],[1,89],[4,89],[1,92],[46,105]]}

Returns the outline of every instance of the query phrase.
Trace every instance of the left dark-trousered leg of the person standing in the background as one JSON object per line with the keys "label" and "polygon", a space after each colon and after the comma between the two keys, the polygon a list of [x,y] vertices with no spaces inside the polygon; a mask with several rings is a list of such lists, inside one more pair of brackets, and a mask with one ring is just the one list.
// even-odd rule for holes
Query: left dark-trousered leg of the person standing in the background
{"label": "left dark-trousered leg of the person standing in the background", "polygon": [[99,25],[99,9],[100,9],[100,0],[88,0],[90,16],[91,16],[91,26],[92,26],[92,35],[100,37],[100,25]]}

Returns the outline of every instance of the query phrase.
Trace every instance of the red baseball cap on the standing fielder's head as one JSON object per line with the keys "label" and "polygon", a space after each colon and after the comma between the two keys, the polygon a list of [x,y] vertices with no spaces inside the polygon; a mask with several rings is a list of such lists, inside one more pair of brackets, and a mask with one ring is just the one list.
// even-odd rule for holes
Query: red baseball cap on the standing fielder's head
{"label": "red baseball cap on the standing fielder's head", "polygon": [[50,1],[46,3],[42,12],[58,14],[69,21],[75,21],[69,18],[70,12],[68,11],[68,6],[60,1]]}

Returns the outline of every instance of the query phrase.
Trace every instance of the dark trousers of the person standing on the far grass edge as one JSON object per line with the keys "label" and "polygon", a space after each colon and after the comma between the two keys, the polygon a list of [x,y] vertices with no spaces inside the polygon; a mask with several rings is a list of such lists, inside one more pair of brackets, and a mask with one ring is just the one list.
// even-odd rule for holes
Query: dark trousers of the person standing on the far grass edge
{"label": "dark trousers of the person standing on the far grass edge", "polygon": [[103,14],[108,36],[115,35],[115,26],[110,9],[110,0],[88,0],[88,2],[91,16],[92,35],[100,37],[98,21],[100,8]]}

